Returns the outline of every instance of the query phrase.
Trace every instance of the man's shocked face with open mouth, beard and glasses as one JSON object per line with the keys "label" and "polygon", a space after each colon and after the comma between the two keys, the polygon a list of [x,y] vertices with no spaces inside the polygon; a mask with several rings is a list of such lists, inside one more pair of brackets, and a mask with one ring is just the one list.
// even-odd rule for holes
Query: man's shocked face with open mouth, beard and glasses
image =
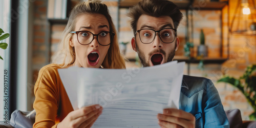
{"label": "man's shocked face with open mouth, beard and glasses", "polygon": [[[149,15],[141,15],[139,17],[137,30],[161,30],[159,34],[158,32],[156,33],[155,38],[153,37],[154,35],[151,35],[151,32],[144,30],[137,32],[135,37],[132,38],[133,50],[138,53],[143,67],[160,65],[173,60],[175,51],[179,47],[179,38],[173,35],[174,31],[167,31],[171,29],[165,28],[174,29],[173,19],[169,16],[153,17]],[[150,41],[152,38],[148,40],[146,39],[147,37],[150,38],[150,36],[154,39],[152,42]],[[143,44],[142,41],[149,44]],[[164,43],[163,41],[171,43]]]}

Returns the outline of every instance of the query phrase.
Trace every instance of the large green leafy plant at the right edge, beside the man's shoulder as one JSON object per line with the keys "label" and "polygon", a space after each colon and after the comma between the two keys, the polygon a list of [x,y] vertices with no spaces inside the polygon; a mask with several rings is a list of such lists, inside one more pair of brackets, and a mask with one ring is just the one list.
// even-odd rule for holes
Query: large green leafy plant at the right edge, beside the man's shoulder
{"label": "large green leafy plant at the right edge, beside the man's shoulder", "polygon": [[254,110],[254,113],[249,116],[250,120],[256,120],[256,65],[248,66],[245,73],[238,79],[225,75],[218,82],[230,83],[238,88]]}

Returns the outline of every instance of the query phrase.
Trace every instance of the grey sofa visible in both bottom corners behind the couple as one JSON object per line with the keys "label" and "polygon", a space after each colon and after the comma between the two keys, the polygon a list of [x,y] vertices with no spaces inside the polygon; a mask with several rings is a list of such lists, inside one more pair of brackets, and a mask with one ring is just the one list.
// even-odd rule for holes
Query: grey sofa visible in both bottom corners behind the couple
{"label": "grey sofa visible in both bottom corners behind the couple", "polygon": [[[230,127],[231,128],[256,128],[256,121],[242,120],[241,112],[239,109],[227,110],[225,111]],[[32,127],[33,122],[35,121],[35,114],[31,117],[25,117],[28,112],[22,112],[15,110],[11,115],[11,120],[8,124],[0,122],[0,128],[4,127]]]}

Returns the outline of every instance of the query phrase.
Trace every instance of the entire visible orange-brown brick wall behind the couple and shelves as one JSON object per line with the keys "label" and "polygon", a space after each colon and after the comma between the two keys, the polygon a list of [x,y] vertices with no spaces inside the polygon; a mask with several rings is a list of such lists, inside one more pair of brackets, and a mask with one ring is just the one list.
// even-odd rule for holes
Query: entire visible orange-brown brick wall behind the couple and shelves
{"label": "entire visible orange-brown brick wall behind the couple and shelves", "polygon": [[[235,1],[232,1],[230,6],[230,16],[235,9]],[[60,41],[60,35],[65,28],[63,24],[54,24],[49,27],[47,18],[46,18],[46,0],[37,0],[34,4],[34,42],[33,42],[33,78],[34,82],[37,78],[38,71],[41,67],[47,65],[49,63],[49,54],[52,55],[57,48],[57,44]],[[129,17],[126,16],[127,9],[120,9],[120,17],[119,22],[117,18],[117,3],[116,1],[108,1],[109,6],[112,6],[110,9],[111,16],[113,17],[114,23],[119,23],[119,42],[129,42],[127,44],[127,50],[125,57],[126,58],[136,58],[137,53],[132,50],[131,47],[131,38],[133,37],[132,29],[129,25]],[[223,10],[223,20],[222,25],[224,29],[224,38],[223,38],[223,57],[227,57],[227,33],[228,32],[228,23],[227,23],[227,7]],[[185,11],[182,10],[182,13],[185,14]],[[205,42],[209,48],[209,57],[220,57],[220,37],[221,37],[221,22],[220,17],[221,11],[214,10],[201,10],[198,11],[197,14],[194,14],[194,44],[199,45],[199,34],[200,29],[202,28],[205,32]],[[231,17],[230,17],[231,20]],[[185,44],[185,26],[186,19],[182,20],[179,28],[178,28],[178,37],[180,38],[181,44],[179,50],[176,55],[184,55],[183,45]],[[52,31],[50,35],[50,39],[46,40],[46,36],[49,33],[46,33],[47,27],[49,27]],[[117,27],[117,25],[116,25]],[[51,42],[50,44],[48,42]],[[233,88],[229,84],[225,83],[216,83],[216,81],[226,73],[228,75],[239,77],[243,74],[246,66],[250,63],[256,63],[256,40],[254,36],[236,36],[230,35],[230,58],[228,61],[222,64],[208,64],[205,65],[204,70],[199,70],[198,64],[190,65],[190,75],[194,76],[204,76],[211,79],[220,93],[220,97],[222,103],[224,105],[225,110],[229,109],[240,109],[242,112],[242,118],[249,119],[248,115],[250,115],[253,110],[251,106],[247,103],[243,94],[238,91],[238,89]],[[196,51],[196,47],[194,49]],[[196,56],[196,53],[194,53]],[[139,67],[135,62],[127,62],[127,68],[130,67]],[[187,74],[187,66],[185,67],[184,74]]]}

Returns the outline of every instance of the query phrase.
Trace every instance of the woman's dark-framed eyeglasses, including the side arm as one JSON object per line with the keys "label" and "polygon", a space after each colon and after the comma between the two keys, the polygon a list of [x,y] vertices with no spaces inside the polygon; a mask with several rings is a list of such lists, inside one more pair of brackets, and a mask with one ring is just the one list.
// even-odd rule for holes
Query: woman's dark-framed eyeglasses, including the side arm
{"label": "woman's dark-framed eyeglasses, including the side arm", "polygon": [[94,36],[97,36],[97,40],[100,45],[108,46],[111,44],[115,33],[102,31],[99,34],[93,34],[89,31],[71,31],[70,33],[76,33],[77,40],[81,45],[89,45],[94,39]]}

